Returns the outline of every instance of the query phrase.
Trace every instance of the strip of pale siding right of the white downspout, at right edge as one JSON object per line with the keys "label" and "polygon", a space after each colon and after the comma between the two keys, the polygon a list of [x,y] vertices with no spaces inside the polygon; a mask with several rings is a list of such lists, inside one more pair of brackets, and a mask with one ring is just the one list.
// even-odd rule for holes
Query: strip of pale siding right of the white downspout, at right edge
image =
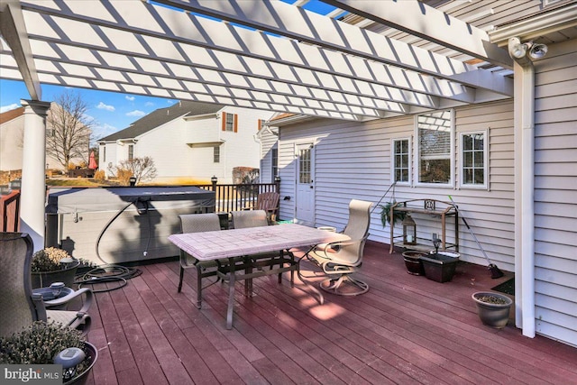
{"label": "strip of pale siding right of the white downspout, at right edge", "polygon": [[536,62],[536,332],[577,345],[577,41]]}

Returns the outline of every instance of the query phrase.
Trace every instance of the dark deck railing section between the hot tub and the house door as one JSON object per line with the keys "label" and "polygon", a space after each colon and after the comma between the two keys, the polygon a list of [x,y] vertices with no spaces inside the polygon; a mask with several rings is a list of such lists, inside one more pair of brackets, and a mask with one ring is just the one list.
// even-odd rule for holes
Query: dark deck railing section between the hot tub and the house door
{"label": "dark deck railing section between the hot tub and the house door", "polygon": [[256,205],[260,193],[279,192],[279,183],[251,183],[219,185],[217,183],[197,185],[199,188],[215,191],[215,211],[229,213]]}

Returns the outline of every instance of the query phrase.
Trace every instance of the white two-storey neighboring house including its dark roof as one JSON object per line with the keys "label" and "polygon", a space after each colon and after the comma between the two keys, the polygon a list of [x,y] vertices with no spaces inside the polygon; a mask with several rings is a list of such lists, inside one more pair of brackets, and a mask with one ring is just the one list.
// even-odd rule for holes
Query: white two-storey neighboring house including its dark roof
{"label": "white two-storey neighboring house including its dark roof", "polygon": [[255,140],[267,111],[179,102],[142,117],[130,127],[100,139],[100,170],[122,160],[150,156],[157,183],[233,182],[234,167],[259,168]]}

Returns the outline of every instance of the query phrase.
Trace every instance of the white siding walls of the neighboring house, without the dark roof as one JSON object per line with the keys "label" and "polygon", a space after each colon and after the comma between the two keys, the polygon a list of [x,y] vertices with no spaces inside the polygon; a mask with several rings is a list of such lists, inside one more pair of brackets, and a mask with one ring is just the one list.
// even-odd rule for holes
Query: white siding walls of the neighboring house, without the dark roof
{"label": "white siding walls of the neighboring house, without the dark roof", "polygon": [[[116,165],[126,160],[128,145],[133,143],[134,157],[151,156],[154,160],[155,183],[179,184],[191,179],[208,183],[212,176],[217,177],[219,183],[232,183],[235,167],[259,168],[260,144],[255,134],[259,119],[265,121],[272,113],[235,107],[226,107],[223,111],[238,115],[236,133],[222,130],[221,112],[186,120],[175,116],[174,120],[139,135],[135,143],[107,143],[105,164]],[[214,134],[206,135],[207,130]],[[205,137],[210,138],[210,143],[203,143]],[[219,163],[214,162],[215,142],[222,142]]]}

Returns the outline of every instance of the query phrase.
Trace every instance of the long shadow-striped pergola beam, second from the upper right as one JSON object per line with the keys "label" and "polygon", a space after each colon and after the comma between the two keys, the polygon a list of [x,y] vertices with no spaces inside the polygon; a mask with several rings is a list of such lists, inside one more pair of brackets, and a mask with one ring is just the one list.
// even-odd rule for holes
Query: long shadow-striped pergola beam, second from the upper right
{"label": "long shadow-striped pergola beam, second from the upper right", "polygon": [[513,95],[511,79],[283,2],[156,2],[437,78],[458,78],[459,82],[470,87],[491,87],[494,92]]}

